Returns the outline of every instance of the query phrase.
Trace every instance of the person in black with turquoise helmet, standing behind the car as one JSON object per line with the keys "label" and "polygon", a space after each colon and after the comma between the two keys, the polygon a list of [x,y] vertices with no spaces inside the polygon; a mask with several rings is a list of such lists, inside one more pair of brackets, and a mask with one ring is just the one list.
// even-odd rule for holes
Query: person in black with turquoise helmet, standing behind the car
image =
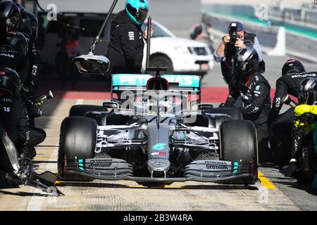
{"label": "person in black with turquoise helmet, standing behind the car", "polygon": [[141,73],[144,39],[147,39],[147,30],[143,34],[141,27],[148,11],[147,0],[128,0],[125,10],[114,19],[106,53],[113,74]]}

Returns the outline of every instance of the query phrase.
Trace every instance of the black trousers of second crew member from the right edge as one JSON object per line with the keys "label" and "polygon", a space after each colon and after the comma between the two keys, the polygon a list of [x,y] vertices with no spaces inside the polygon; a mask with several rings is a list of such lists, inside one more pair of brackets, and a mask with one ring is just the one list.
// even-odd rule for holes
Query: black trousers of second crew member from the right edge
{"label": "black trousers of second crew member from the right edge", "polygon": [[294,109],[290,108],[278,115],[269,127],[271,152],[276,165],[287,165],[290,162],[293,124]]}

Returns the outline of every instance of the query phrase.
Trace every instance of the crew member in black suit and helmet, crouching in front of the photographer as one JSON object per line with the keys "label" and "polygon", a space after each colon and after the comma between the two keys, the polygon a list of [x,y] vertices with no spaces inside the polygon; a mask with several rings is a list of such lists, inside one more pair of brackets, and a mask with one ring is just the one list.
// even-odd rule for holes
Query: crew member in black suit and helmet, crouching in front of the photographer
{"label": "crew member in black suit and helmet, crouching in front of the photographer", "polygon": [[[259,55],[255,49],[241,49],[236,56],[237,79],[239,85],[232,92],[232,99],[240,96],[243,101],[242,115],[244,120],[254,122],[258,140],[259,162],[271,162],[272,155],[268,150],[268,115],[271,110],[268,81],[259,72]],[[234,101],[231,101],[234,104]]]}

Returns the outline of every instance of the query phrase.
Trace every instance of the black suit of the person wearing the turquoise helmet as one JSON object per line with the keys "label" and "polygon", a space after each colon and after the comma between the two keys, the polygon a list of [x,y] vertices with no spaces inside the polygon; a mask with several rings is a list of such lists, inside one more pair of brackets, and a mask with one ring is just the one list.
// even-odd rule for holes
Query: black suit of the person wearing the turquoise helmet
{"label": "black suit of the person wearing the turquoise helmet", "polygon": [[111,72],[141,73],[143,49],[141,26],[135,25],[125,10],[120,11],[113,20],[111,40],[106,53],[110,60]]}

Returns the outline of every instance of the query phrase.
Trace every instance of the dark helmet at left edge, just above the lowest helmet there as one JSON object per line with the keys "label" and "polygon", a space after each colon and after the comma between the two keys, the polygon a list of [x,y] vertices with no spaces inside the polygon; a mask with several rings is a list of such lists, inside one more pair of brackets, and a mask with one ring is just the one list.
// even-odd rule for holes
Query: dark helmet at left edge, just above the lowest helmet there
{"label": "dark helmet at left edge, just above the lowest helmet there", "polygon": [[6,32],[1,41],[0,49],[18,51],[18,53],[26,56],[29,49],[28,39],[15,30]]}

